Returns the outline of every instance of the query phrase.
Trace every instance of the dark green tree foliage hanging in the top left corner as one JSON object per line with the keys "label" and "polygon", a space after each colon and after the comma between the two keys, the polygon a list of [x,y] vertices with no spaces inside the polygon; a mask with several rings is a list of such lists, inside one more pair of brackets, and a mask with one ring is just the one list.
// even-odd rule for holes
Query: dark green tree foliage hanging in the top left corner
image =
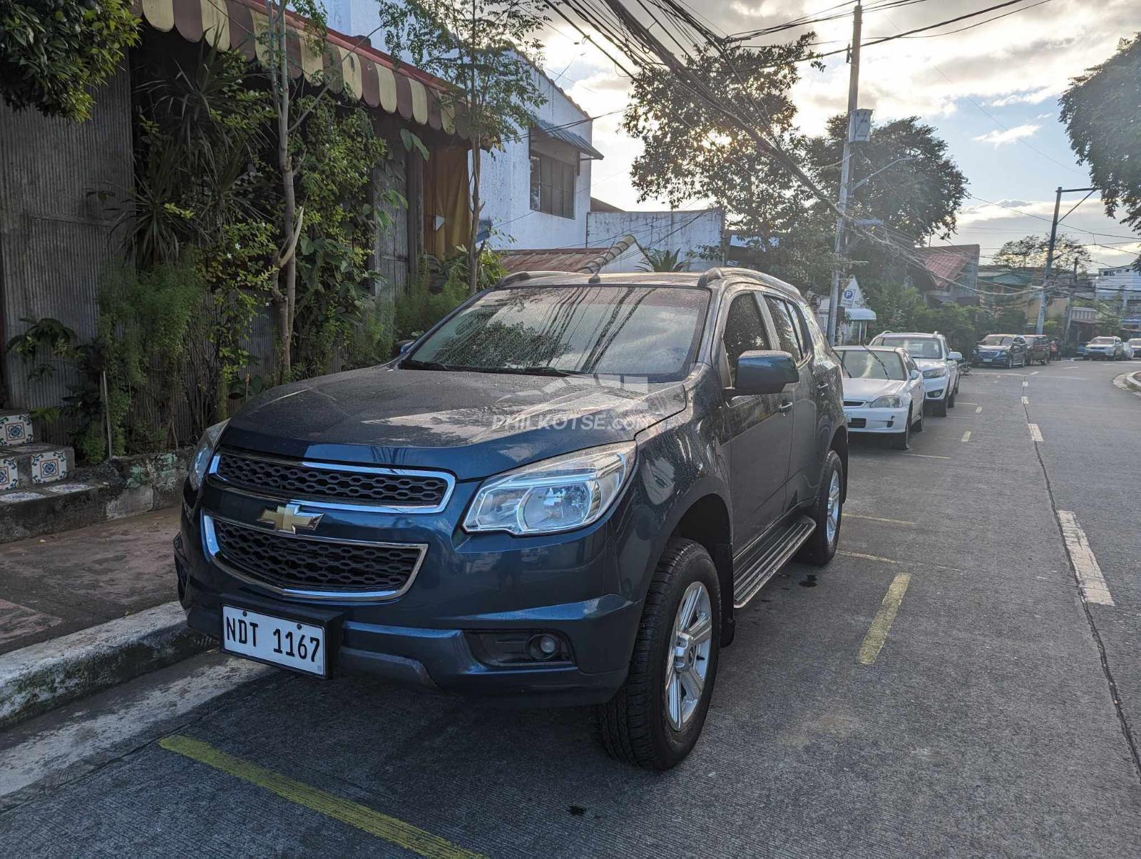
{"label": "dark green tree foliage hanging in the top left corner", "polygon": [[15,110],[81,122],[90,90],[106,81],[138,42],[130,0],[0,2],[0,94]]}

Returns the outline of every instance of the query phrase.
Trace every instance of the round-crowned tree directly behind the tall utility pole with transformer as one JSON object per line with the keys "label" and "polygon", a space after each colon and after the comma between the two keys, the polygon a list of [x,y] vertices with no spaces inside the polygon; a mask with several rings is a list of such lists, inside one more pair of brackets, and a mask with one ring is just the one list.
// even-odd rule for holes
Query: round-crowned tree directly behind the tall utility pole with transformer
{"label": "round-crowned tree directly behind the tall utility pole with transformer", "polygon": [[[840,192],[848,117],[828,120],[808,142],[812,174],[832,194]],[[883,222],[889,236],[913,247],[923,239],[947,239],[966,196],[966,177],[947,154],[947,142],[919,117],[873,126],[871,139],[852,144],[849,211]]]}

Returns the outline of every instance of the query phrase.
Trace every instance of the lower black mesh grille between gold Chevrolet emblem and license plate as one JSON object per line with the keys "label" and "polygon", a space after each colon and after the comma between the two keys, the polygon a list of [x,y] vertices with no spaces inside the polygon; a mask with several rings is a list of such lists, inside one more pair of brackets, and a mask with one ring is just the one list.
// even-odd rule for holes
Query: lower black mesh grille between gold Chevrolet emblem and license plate
{"label": "lower black mesh grille between gold Chevrolet emblem and license plate", "polygon": [[423,546],[333,543],[283,537],[213,520],[218,557],[249,578],[278,588],[353,592],[400,591],[415,572]]}

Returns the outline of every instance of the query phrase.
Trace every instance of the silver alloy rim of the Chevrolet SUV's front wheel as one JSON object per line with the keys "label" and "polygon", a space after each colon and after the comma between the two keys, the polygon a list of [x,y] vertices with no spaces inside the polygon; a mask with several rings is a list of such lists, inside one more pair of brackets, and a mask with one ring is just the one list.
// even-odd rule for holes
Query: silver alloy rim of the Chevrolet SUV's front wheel
{"label": "silver alloy rim of the Chevrolet SUV's front wheel", "polygon": [[704,583],[691,583],[682,594],[672,642],[665,663],[665,713],[673,730],[681,731],[701,704],[713,647],[713,615]]}

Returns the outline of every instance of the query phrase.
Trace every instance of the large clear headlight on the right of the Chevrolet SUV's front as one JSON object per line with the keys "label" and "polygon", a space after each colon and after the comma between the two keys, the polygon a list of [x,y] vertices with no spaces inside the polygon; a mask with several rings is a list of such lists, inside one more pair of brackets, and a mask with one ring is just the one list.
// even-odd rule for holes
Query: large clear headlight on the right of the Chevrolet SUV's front
{"label": "large clear headlight on the right of the Chevrolet SUV's front", "polygon": [[476,492],[466,531],[555,533],[594,522],[633,469],[632,441],[544,459],[492,477]]}

